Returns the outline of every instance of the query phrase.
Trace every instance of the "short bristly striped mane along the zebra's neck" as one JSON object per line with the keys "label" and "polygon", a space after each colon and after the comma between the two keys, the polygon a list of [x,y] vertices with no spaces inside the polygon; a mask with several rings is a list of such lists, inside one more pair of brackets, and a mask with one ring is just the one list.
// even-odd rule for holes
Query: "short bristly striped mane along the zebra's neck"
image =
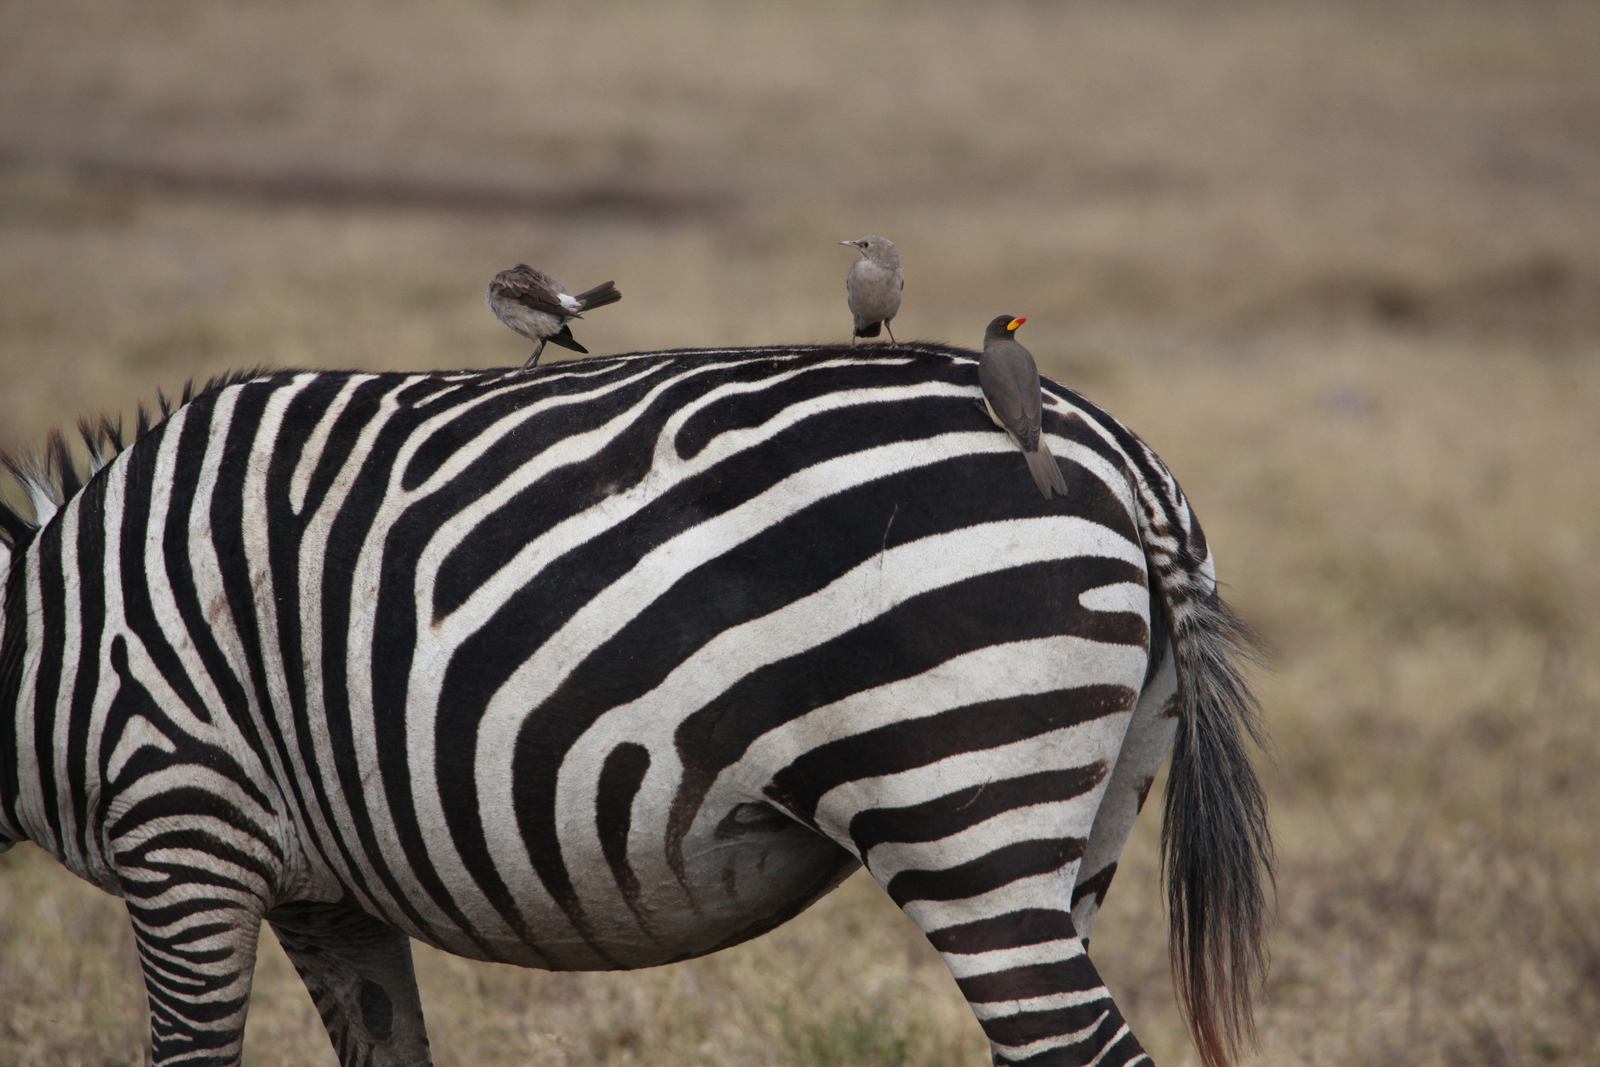
{"label": "short bristly striped mane along the zebra's neck", "polygon": [[34,515],[29,518],[5,501],[0,501],[0,542],[13,553],[21,552],[51,517],[77,496],[106,464],[166,421],[173,411],[182,408],[195,397],[214,389],[251,381],[262,373],[261,368],[229,371],[211,378],[198,390],[190,379],[184,382],[182,392],[176,398],[157,389],[155,408],[139,405],[131,435],[123,430],[120,414],[115,421],[104,414],[98,419],[78,419],[78,437],[88,451],[86,470],[78,469],[78,461],[74,458],[72,448],[59,429],[50,430],[50,435],[45,438],[45,448],[40,451],[19,454],[0,451],[0,466],[11,474],[34,509]]}

